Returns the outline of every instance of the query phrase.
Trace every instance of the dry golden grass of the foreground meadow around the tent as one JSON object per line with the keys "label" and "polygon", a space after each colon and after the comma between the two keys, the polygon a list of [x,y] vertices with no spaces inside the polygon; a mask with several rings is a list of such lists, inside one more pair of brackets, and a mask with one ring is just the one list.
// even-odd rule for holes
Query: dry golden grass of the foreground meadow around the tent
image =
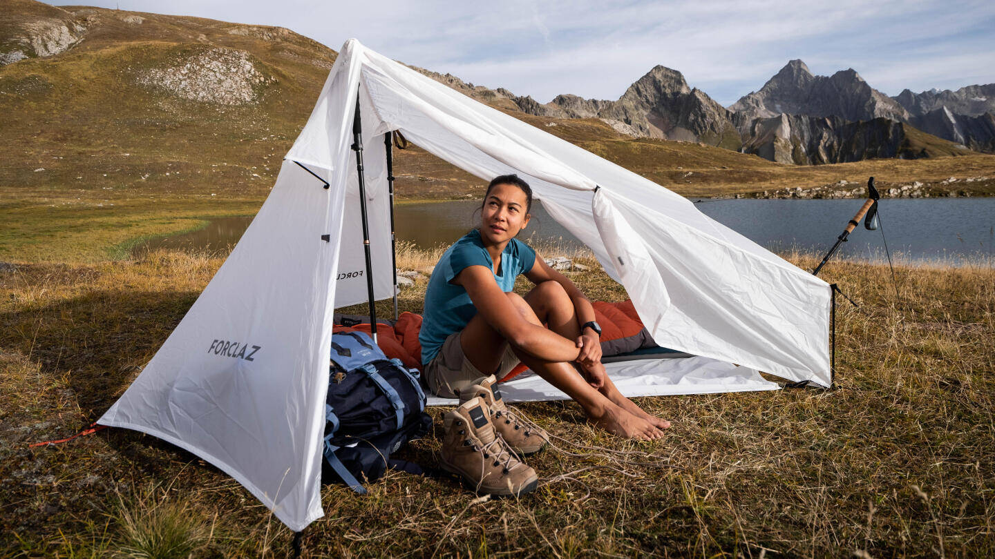
{"label": "dry golden grass of the foreground meadow around the tent", "polygon": [[[419,269],[438,254],[399,258]],[[27,448],[99,417],[220,264],[158,252],[0,273],[0,555],[104,556],[176,533],[194,556],[286,555],[290,533],[248,491],[157,439],[107,430]],[[624,297],[600,272],[572,276]],[[995,271],[902,267],[897,300],[887,267],[833,263],[824,277],[861,304],[840,306],[834,390],[642,399],[675,422],[656,443],[595,431],[572,403],[525,405],[595,448],[530,459],[543,485],[518,501],[400,473],[363,497],[326,485],[305,553],[992,556]],[[421,309],[424,285],[403,291],[402,309]],[[407,457],[434,464],[440,436]]]}

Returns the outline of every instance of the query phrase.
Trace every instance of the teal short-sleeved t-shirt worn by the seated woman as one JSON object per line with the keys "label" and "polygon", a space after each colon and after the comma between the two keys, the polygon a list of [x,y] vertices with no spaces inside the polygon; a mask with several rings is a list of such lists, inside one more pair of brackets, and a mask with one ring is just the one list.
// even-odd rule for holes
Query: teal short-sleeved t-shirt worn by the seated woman
{"label": "teal short-sleeved t-shirt worn by the seated woman", "polygon": [[535,251],[528,245],[511,239],[500,257],[500,275],[494,274],[494,261],[484,248],[481,232],[466,234],[439,259],[428,290],[425,291],[425,313],[418,341],[422,344],[422,364],[427,365],[442,347],[446,338],[467,326],[477,314],[477,307],[470,300],[463,285],[450,283],[470,266],[484,266],[494,274],[497,286],[504,292],[514,289],[514,280],[525,274],[535,264]]}

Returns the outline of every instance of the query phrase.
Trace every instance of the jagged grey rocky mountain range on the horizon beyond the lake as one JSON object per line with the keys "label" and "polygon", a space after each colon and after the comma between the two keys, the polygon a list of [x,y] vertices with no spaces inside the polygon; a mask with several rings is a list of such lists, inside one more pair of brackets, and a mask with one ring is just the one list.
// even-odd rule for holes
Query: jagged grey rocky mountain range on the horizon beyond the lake
{"label": "jagged grey rocky mountain range on the horizon beyond the lake", "polygon": [[853,69],[814,76],[790,61],[728,107],[657,66],[617,100],[560,94],[547,103],[420,72],[495,106],[555,118],[600,118],[634,137],[696,141],[771,161],[823,164],[995,152],[995,84],[956,92],[875,90]]}

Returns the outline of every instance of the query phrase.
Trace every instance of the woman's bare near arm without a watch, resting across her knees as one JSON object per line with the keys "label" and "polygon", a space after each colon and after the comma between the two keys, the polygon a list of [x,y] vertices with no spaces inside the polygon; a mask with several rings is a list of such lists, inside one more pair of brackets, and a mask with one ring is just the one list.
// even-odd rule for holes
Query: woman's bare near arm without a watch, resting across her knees
{"label": "woman's bare near arm without a watch, resting across her knees", "polygon": [[467,289],[477,312],[513,346],[546,361],[577,359],[580,352],[574,341],[526,320],[497,286],[494,275],[487,267],[467,267],[453,279],[453,283]]}

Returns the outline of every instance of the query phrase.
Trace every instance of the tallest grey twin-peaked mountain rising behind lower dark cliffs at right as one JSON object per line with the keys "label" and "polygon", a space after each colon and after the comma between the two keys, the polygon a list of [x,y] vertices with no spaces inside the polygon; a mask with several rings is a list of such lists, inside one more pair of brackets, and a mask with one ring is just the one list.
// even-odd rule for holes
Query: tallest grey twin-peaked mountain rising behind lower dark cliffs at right
{"label": "tallest grey twin-peaked mountain rising behind lower dark cliffs at right", "polygon": [[907,121],[909,114],[892,97],[875,90],[853,69],[833,76],[813,76],[800,60],[793,60],[763,85],[729,106],[740,122],[780,113],[839,116],[845,120],[885,117]]}

